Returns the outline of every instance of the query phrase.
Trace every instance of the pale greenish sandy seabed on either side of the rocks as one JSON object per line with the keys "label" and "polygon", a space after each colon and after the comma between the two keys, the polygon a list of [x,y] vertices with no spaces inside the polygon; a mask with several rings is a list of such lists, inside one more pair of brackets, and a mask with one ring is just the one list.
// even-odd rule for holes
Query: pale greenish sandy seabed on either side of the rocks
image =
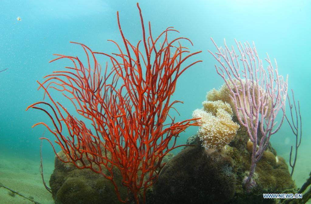
{"label": "pale greenish sandy seabed on either side of the rocks", "polygon": [[[293,179],[298,187],[309,178],[311,171],[309,150],[299,149],[298,160]],[[281,155],[282,156],[282,155]],[[25,197],[31,197],[40,204],[53,204],[52,195],[44,188],[39,173],[40,161],[16,157],[0,158],[0,183]],[[49,184],[50,175],[53,173],[54,162],[44,161],[44,178]],[[12,196],[9,190],[0,188],[0,204],[28,204],[34,203],[19,195]],[[311,204],[311,200],[309,202]]]}

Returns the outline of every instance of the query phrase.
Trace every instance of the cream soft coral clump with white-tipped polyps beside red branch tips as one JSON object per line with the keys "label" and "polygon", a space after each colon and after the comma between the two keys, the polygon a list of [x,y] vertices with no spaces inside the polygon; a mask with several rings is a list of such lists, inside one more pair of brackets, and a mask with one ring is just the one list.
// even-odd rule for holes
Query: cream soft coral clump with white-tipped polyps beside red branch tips
{"label": "cream soft coral clump with white-tipped polyps beside red branch tips", "polygon": [[193,111],[193,118],[198,120],[200,128],[198,135],[202,146],[207,152],[220,150],[233,140],[240,126],[232,121],[233,112],[230,105],[220,100],[203,102],[204,110]]}

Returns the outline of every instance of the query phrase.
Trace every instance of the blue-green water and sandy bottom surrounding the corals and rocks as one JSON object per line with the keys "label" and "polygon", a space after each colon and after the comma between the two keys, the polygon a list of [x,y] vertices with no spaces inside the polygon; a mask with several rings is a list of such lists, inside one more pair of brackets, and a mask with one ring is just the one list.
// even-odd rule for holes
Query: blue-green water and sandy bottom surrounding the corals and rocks
{"label": "blue-green water and sandy bottom surrounding the corals and rocks", "polygon": [[[31,128],[37,122],[48,121],[40,111],[25,111],[26,107],[43,100],[36,80],[43,82],[45,75],[62,70],[68,62],[49,63],[52,54],[84,56],[83,50],[69,41],[80,42],[93,51],[111,53],[115,46],[107,40],[122,43],[116,12],[125,37],[134,45],[141,39],[141,22],[137,1],[1,1],[0,2],[0,183],[40,203],[53,203],[53,198],[42,184],[39,174],[40,140],[44,126]],[[178,121],[192,117],[202,107],[207,91],[223,84],[216,73],[216,60],[207,52],[215,51],[210,37],[217,44],[234,44],[234,39],[255,42],[259,57],[266,52],[276,59],[279,74],[288,74],[288,89],[293,89],[300,102],[302,141],[298,150],[293,179],[300,187],[311,170],[311,108],[310,108],[310,1],[139,1],[145,21],[151,22],[157,36],[169,26],[187,37],[195,64],[180,76],[174,99],[181,100],[175,108]],[[21,21],[17,20],[21,18]],[[104,64],[105,62],[99,62]],[[264,66],[266,66],[264,62]],[[63,97],[56,100],[69,104]],[[286,102],[288,111],[288,103]],[[197,133],[189,127],[181,133],[178,145],[185,144],[189,136]],[[45,137],[52,141],[48,132]],[[290,146],[295,137],[285,121],[271,137],[272,146],[279,156],[289,162]],[[56,151],[59,151],[56,148]],[[177,154],[179,149],[172,152]],[[44,141],[42,145],[44,177],[49,180],[54,168],[55,154]],[[1,202],[3,199],[4,202]],[[18,200],[19,199],[19,200]],[[0,188],[0,203],[31,203],[12,197]]]}

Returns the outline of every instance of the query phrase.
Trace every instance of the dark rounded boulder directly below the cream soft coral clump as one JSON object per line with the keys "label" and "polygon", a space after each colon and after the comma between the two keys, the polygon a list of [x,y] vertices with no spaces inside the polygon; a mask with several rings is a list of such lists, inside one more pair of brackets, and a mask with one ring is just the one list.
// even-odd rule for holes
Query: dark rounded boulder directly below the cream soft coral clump
{"label": "dark rounded boulder directly below the cream soft coral clump", "polygon": [[[198,138],[197,138],[198,139]],[[228,203],[235,193],[233,159],[207,157],[201,145],[185,148],[162,169],[156,203]]]}

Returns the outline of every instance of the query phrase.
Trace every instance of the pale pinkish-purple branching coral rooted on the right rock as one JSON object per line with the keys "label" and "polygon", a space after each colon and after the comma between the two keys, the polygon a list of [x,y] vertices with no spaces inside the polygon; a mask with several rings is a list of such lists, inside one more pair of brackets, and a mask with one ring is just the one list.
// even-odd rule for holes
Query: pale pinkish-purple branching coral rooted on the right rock
{"label": "pale pinkish-purple branching coral rooted on the right rock", "polygon": [[[244,187],[249,191],[256,185],[252,178],[256,163],[267,148],[270,136],[275,134],[283,123],[285,111],[278,124],[276,116],[282,108],[285,110],[287,78],[285,81],[283,76],[278,74],[276,61],[275,69],[273,68],[268,54],[267,70],[263,68],[254,43],[252,48],[248,42],[242,44],[235,40],[239,56],[233,46],[230,50],[225,40],[224,48],[218,47],[212,38],[211,40],[217,52],[214,54],[208,51],[220,63],[221,66],[215,64],[215,68],[217,74],[225,81],[225,86],[221,89],[229,93],[227,94],[229,98],[226,98],[229,99],[239,123],[246,127],[249,143],[253,146],[251,167],[243,182]],[[261,138],[258,137],[258,130],[262,133]]]}

